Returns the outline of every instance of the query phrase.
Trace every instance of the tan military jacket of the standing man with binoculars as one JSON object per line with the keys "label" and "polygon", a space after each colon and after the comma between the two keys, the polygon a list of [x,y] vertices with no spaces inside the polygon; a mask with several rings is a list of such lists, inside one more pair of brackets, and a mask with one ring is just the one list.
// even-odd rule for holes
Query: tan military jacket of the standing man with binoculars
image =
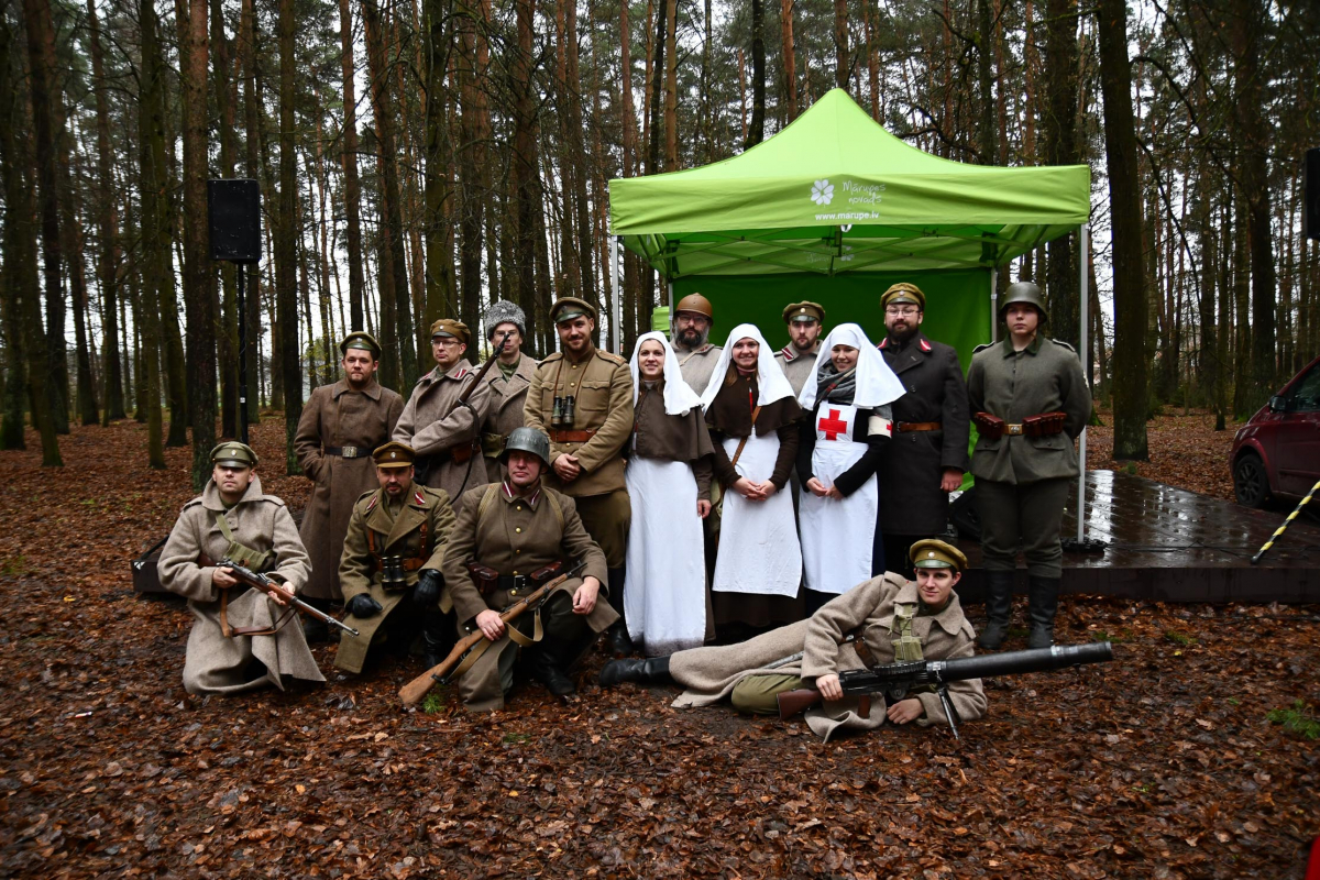
{"label": "tan military jacket of the standing man with binoculars", "polygon": [[528,427],[546,434],[554,430],[550,416],[556,394],[577,398],[573,427],[565,430],[594,430],[595,435],[585,443],[556,443],[552,437],[550,462],[568,453],[577,456],[582,472],[572,483],[561,484],[554,471],[548,470],[544,482],[572,497],[624,491],[623,445],[632,433],[632,373],[628,361],[599,348],[593,348],[579,361],[554,352],[536,368],[532,387],[527,391],[523,420]]}

